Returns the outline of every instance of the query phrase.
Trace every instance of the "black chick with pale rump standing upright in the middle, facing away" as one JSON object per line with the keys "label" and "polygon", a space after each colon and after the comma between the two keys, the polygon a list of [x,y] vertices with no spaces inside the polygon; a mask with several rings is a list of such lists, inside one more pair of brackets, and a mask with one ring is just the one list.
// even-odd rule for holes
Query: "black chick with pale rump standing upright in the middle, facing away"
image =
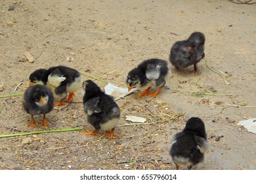
{"label": "black chick with pale rump standing upright in the middle, facing away", "polygon": [[110,131],[104,133],[112,138],[117,136],[114,134],[114,129],[119,122],[120,109],[113,97],[106,95],[92,80],[83,82],[83,105],[85,113],[87,113],[87,121],[95,127],[94,131],[82,133],[83,135],[99,135],[98,130]]}

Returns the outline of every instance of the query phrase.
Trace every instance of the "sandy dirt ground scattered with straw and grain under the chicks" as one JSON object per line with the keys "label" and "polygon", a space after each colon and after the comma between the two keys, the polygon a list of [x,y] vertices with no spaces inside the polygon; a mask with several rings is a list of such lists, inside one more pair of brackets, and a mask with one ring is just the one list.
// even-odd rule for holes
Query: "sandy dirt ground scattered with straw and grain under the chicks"
{"label": "sandy dirt ground scattered with straw and grain under the chicks", "polygon": [[[256,169],[255,134],[237,125],[256,117],[255,17],[256,5],[224,0],[0,1],[1,96],[16,86],[15,93],[24,93],[30,73],[56,65],[85,72],[83,80],[91,75],[125,88],[125,76],[144,59],[168,61],[174,42],[194,31],[206,37],[198,76],[192,67],[171,67],[169,89],[156,99],[138,100],[135,92],[117,101],[123,108],[118,137],[81,135],[93,127],[79,91],[47,118],[50,130],[83,130],[1,138],[0,169],[175,169],[171,136],[191,116],[205,122],[211,144],[205,161],[193,169]],[[24,60],[24,52],[35,61]],[[95,82],[102,90],[106,85]],[[1,97],[0,112],[1,135],[35,131],[27,126],[22,96]],[[127,114],[151,124],[128,125]]]}

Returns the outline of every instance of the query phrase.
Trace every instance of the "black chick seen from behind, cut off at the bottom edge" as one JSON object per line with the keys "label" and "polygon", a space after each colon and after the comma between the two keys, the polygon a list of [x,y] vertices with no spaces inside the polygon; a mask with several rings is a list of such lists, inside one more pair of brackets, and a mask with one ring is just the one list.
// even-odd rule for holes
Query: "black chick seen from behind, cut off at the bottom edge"
{"label": "black chick seen from behind, cut off at the bottom edge", "polygon": [[179,170],[179,167],[191,169],[193,165],[203,161],[208,150],[203,121],[200,118],[190,118],[184,129],[174,135],[169,153]]}

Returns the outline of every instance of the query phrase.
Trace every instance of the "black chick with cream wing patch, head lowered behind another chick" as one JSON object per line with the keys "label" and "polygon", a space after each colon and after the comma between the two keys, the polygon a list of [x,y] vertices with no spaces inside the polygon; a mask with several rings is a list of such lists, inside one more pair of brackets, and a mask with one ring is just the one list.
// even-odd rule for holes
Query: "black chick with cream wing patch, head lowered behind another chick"
{"label": "black chick with cream wing patch, head lowered behind another chick", "polygon": [[38,69],[30,75],[29,79],[30,85],[44,84],[61,97],[60,102],[54,103],[54,106],[66,105],[65,99],[68,94],[67,103],[70,103],[82,83],[81,74],[78,71],[62,65],[48,70]]}

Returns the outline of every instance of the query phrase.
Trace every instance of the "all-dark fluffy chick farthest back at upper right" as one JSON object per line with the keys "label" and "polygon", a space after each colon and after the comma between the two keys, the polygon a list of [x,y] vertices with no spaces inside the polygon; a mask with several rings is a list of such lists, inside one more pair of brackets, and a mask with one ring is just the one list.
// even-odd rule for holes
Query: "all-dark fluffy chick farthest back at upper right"
{"label": "all-dark fluffy chick farthest back at upper right", "polygon": [[190,65],[194,65],[194,73],[198,75],[198,63],[204,58],[204,43],[205,36],[203,33],[194,32],[185,41],[177,41],[171,47],[169,61],[175,66],[176,69],[183,69]]}

